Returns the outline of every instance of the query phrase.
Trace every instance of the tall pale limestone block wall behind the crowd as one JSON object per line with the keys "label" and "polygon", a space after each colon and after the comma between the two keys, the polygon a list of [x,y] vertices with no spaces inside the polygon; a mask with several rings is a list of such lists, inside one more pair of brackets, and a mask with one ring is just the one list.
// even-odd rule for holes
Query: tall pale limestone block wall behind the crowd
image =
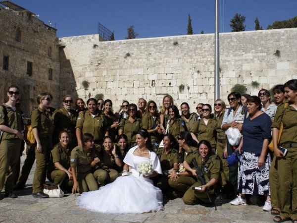
{"label": "tall pale limestone block wall behind the crowd", "polygon": [[[237,83],[247,93],[297,78],[297,29],[220,34],[220,91],[226,101]],[[99,42],[98,35],[64,37],[76,86],[64,92],[79,97],[98,93],[118,107],[124,99],[156,100],[165,94],[180,105],[186,101],[195,111],[198,102],[214,100],[214,34]],[[280,56],[275,56],[276,50]],[[61,77],[65,75],[61,72]],[[90,87],[84,89],[87,80]],[[254,88],[251,82],[258,82]]]}

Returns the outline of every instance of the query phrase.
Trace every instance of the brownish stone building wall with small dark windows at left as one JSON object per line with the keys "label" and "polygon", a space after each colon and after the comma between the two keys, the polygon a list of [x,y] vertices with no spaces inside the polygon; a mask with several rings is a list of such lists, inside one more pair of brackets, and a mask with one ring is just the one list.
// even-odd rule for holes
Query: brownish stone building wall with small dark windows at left
{"label": "brownish stone building wall with small dark windows at left", "polygon": [[[20,42],[15,38],[18,28]],[[6,100],[7,87],[14,84],[20,88],[24,112],[29,113],[37,106],[36,97],[44,91],[53,95],[52,106],[57,107],[61,92],[60,49],[55,29],[35,17],[29,19],[0,7],[0,102]],[[9,56],[8,70],[3,69],[3,56]],[[33,63],[32,76],[27,74],[27,61]],[[52,80],[49,80],[49,68]]]}

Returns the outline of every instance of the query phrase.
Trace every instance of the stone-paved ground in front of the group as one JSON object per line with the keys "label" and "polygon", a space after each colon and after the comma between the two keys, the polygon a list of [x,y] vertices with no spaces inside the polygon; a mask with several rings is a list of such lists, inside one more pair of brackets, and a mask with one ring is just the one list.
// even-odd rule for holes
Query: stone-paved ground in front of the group
{"label": "stone-paved ground in front of the group", "polygon": [[[23,163],[25,156],[21,160]],[[18,198],[3,198],[0,201],[1,223],[273,222],[273,216],[262,211],[262,207],[257,206],[256,198],[251,199],[251,205],[245,206],[232,206],[227,203],[228,200],[222,200],[222,202],[218,202],[217,211],[215,211],[214,207],[185,205],[182,199],[179,198],[165,201],[164,208],[156,213],[111,215],[91,212],[76,205],[75,199],[79,196],[78,194],[66,194],[63,198],[33,198],[31,196],[33,170],[27,181],[26,188],[16,191]],[[1,197],[3,197],[3,194],[1,194]]]}

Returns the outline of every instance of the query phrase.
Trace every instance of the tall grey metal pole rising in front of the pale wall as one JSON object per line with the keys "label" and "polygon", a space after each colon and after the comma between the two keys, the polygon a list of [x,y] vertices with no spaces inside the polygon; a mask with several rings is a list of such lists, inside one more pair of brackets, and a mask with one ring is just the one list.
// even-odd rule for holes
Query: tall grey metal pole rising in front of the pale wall
{"label": "tall grey metal pole rising in front of the pale wall", "polygon": [[219,0],[215,0],[214,100],[220,98]]}

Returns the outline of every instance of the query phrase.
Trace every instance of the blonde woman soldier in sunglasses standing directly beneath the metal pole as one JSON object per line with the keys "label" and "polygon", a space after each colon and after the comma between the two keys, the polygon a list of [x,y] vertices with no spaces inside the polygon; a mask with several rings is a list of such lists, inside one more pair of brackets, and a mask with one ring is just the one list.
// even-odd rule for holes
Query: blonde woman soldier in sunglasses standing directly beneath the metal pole
{"label": "blonde woman soldier in sunglasses standing directly beneath the metal pole", "polygon": [[220,158],[222,158],[225,147],[226,147],[226,135],[225,131],[221,128],[222,126],[222,121],[224,117],[224,113],[226,111],[226,104],[223,100],[217,99],[214,103],[214,117],[216,119],[216,153],[219,155]]}

